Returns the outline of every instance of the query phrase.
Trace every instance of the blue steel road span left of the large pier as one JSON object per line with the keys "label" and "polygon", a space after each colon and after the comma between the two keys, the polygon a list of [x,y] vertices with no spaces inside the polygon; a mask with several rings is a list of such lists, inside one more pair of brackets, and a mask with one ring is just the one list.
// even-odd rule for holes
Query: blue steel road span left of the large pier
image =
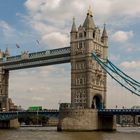
{"label": "blue steel road span left of the large pier", "polygon": [[47,116],[48,118],[58,118],[58,110],[47,110],[47,111],[10,111],[0,112],[0,121],[12,120],[20,116]]}

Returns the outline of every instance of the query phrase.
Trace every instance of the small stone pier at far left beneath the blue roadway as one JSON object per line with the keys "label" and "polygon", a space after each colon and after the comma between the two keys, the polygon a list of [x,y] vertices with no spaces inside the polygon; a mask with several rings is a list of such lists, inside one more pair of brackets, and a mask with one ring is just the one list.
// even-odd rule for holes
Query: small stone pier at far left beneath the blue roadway
{"label": "small stone pier at far left beneath the blue roadway", "polygon": [[0,121],[0,128],[2,128],[2,129],[19,128],[19,127],[20,127],[20,125],[19,125],[18,119]]}

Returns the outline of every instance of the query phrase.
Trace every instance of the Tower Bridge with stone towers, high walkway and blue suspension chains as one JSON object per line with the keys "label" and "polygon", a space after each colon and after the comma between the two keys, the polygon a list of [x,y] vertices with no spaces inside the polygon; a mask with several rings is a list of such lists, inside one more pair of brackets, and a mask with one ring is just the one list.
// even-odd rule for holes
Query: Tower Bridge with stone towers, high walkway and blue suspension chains
{"label": "Tower Bridge with stone towers, high walkway and blue suspension chains", "polygon": [[[75,19],[70,32],[70,46],[42,52],[24,52],[10,56],[8,49],[0,52],[0,108],[9,111],[9,71],[61,63],[71,64],[71,103],[61,103],[58,130],[113,130],[115,115],[140,114],[140,110],[109,110],[106,108],[107,73],[121,86],[139,95],[140,83],[118,70],[112,63],[107,66],[108,35],[96,26],[89,9],[82,25],[76,27]],[[111,75],[120,76],[127,85]],[[133,90],[131,90],[133,88]],[[136,92],[137,91],[137,92]],[[22,112],[20,112],[22,113]],[[25,113],[25,112],[24,112]],[[29,112],[26,112],[27,114]],[[12,112],[8,112],[10,115]],[[5,113],[0,114],[5,115]]]}

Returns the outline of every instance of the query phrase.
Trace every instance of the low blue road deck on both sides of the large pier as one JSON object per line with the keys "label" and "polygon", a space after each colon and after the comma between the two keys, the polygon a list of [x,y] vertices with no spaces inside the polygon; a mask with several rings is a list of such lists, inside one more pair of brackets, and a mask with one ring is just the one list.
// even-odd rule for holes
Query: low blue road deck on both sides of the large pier
{"label": "low blue road deck on both sides of the large pier", "polygon": [[[43,110],[43,111],[9,111],[0,112],[0,121],[18,118],[20,116],[36,116],[44,115],[51,118],[58,118],[58,110]],[[140,115],[140,109],[101,109],[98,110],[98,115]]]}

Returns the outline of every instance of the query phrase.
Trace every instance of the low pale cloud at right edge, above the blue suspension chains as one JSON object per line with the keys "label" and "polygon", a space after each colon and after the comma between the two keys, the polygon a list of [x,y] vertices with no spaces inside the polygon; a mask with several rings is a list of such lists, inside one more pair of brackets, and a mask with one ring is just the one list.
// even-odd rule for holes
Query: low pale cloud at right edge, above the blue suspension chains
{"label": "low pale cloud at right edge, above the blue suspension chains", "polygon": [[120,66],[127,69],[140,68],[140,61],[124,61],[120,64]]}

